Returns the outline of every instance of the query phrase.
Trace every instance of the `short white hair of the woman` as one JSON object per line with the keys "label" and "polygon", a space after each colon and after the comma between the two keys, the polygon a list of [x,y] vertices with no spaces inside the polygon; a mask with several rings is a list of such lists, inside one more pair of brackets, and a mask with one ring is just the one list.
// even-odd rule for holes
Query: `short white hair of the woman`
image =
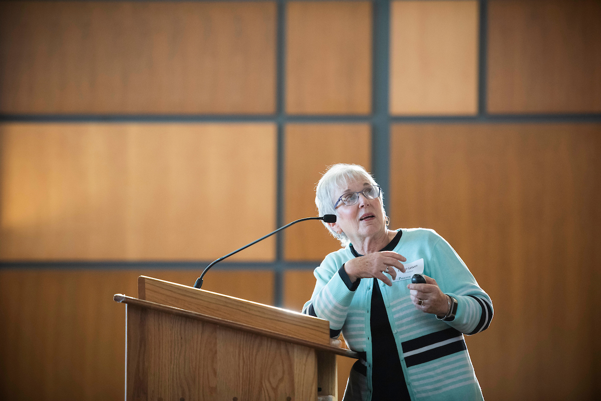
{"label": "short white hair of the woman", "polygon": [[[367,181],[371,185],[377,185],[373,176],[358,164],[339,163],[328,167],[326,172],[323,173],[322,178],[317,182],[317,187],[315,188],[315,204],[317,205],[320,217],[325,214],[335,214],[338,216],[337,211],[334,209],[334,204],[342,194],[341,191],[346,190],[353,181]],[[382,191],[380,191],[379,197],[382,210],[384,210],[384,197]],[[386,216],[386,213],[384,213],[384,216]],[[349,237],[347,237],[344,232],[338,235],[328,223],[322,223],[326,226],[330,234],[340,241],[343,247],[350,244]]]}

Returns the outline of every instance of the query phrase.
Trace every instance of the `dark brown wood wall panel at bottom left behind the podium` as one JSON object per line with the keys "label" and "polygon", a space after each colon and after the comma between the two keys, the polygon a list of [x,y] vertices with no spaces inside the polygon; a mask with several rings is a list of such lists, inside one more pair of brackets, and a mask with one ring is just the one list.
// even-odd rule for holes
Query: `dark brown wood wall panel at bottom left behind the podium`
{"label": "dark brown wood wall panel at bottom left behind the podium", "polygon": [[[191,285],[200,271],[0,270],[0,398],[118,400],[125,388],[125,306],[140,274]],[[256,291],[261,288],[261,291]],[[270,271],[218,271],[203,289],[273,303]]]}

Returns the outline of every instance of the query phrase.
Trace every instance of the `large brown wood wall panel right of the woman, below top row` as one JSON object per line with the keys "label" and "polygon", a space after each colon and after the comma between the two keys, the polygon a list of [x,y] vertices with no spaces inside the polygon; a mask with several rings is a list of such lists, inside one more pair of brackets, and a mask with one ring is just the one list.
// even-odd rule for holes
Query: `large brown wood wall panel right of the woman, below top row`
{"label": "large brown wood wall panel right of the woman, below top row", "polygon": [[600,124],[392,128],[392,226],[435,229],[492,298],[467,340],[487,400],[597,394],[600,154]]}

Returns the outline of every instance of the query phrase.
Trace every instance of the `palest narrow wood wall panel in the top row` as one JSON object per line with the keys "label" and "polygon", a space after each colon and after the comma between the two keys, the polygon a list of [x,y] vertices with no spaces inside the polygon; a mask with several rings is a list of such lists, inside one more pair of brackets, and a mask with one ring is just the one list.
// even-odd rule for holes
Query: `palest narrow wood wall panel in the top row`
{"label": "palest narrow wood wall panel in the top row", "polygon": [[478,112],[478,2],[392,1],[390,112]]}

